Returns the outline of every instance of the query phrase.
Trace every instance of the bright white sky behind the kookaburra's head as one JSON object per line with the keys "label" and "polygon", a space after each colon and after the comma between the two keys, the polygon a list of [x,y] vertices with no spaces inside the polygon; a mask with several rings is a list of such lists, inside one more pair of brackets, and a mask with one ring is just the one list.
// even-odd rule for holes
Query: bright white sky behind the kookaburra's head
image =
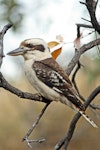
{"label": "bright white sky behind the kookaburra's head", "polygon": [[[81,17],[86,9],[77,0],[19,0],[22,3],[26,18],[22,24],[21,33],[14,34],[11,29],[6,33],[4,53],[16,49],[20,42],[33,37],[43,38],[46,42],[53,41],[57,35],[62,35],[66,51],[73,54],[73,41],[76,38],[76,23],[82,23]],[[69,51],[71,49],[71,51]],[[70,55],[71,56],[71,55]],[[18,65],[16,65],[16,62]],[[7,56],[3,60],[2,72],[14,80],[20,78],[23,72],[23,59]],[[22,67],[20,67],[22,66]]]}

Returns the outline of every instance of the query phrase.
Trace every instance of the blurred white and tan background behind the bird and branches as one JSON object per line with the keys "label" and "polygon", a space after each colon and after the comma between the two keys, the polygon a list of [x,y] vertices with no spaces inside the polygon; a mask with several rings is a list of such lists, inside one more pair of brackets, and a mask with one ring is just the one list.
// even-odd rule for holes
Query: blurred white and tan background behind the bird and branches
{"label": "blurred white and tan background behind the bird and branches", "polygon": [[[21,41],[27,38],[39,37],[47,42],[56,40],[62,35],[65,45],[63,47],[63,62],[71,60],[74,54],[73,41],[76,38],[76,23],[88,23],[81,18],[89,20],[84,5],[77,0],[0,0],[0,29],[7,23],[13,23],[4,39],[4,53],[17,48]],[[96,16],[100,14],[99,5]],[[93,29],[82,28],[82,43],[98,37]],[[78,72],[76,82],[80,93],[87,98],[89,94],[100,85],[100,52],[99,46],[91,49],[81,57],[84,67]],[[66,56],[66,57],[65,57]],[[62,62],[62,63],[63,63]],[[22,57],[7,56],[3,60],[1,72],[6,80],[22,91],[35,93],[28,83],[23,70]],[[93,103],[100,104],[100,94]],[[33,102],[9,93],[0,88],[0,150],[27,150],[22,138],[35,121],[44,104]],[[90,117],[100,125],[100,111],[87,110]],[[46,110],[40,123],[31,134],[31,139],[46,138],[42,144],[35,143],[34,150],[51,150],[62,139],[68,130],[70,121],[74,116],[67,106],[53,102]],[[69,150],[99,150],[100,129],[94,129],[83,118],[78,123]]]}

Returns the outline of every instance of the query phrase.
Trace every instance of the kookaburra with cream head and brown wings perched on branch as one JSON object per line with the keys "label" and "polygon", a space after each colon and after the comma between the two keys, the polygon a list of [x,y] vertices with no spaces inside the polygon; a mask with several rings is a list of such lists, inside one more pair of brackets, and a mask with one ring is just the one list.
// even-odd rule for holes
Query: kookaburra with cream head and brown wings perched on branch
{"label": "kookaburra with cream head and brown wings perched on branch", "polygon": [[41,96],[68,105],[79,112],[93,127],[98,127],[85,113],[85,107],[68,75],[53,59],[50,48],[43,39],[26,39],[17,49],[7,54],[24,57],[25,75]]}

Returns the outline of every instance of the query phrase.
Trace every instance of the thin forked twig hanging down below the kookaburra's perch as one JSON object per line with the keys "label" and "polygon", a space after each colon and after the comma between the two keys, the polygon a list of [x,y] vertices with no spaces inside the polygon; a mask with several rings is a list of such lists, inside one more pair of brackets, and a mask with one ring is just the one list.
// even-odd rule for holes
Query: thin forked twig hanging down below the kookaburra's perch
{"label": "thin forked twig hanging down below the kookaburra's perch", "polygon": [[44,142],[45,139],[38,139],[38,140],[29,140],[28,137],[30,136],[30,134],[32,133],[32,131],[34,130],[34,128],[37,126],[37,124],[39,123],[41,117],[43,116],[44,112],[46,111],[47,107],[49,106],[50,102],[48,102],[42,109],[41,113],[38,115],[38,117],[36,118],[35,122],[33,123],[32,127],[28,130],[28,132],[26,133],[26,135],[23,137],[22,141],[26,141],[27,145],[29,147],[32,147],[30,145],[30,143],[33,143],[33,142]]}

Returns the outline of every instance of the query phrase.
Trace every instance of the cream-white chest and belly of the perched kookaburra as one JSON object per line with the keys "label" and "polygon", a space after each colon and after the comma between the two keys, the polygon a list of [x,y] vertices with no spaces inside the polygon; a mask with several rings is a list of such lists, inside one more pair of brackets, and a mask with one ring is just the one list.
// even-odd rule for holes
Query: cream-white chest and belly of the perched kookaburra
{"label": "cream-white chest and belly of the perched kookaburra", "polygon": [[50,100],[58,101],[59,94],[56,93],[53,89],[49,88],[46,84],[41,82],[34,69],[32,68],[33,62],[29,61],[25,63],[25,74],[31,83],[31,85],[45,98]]}

